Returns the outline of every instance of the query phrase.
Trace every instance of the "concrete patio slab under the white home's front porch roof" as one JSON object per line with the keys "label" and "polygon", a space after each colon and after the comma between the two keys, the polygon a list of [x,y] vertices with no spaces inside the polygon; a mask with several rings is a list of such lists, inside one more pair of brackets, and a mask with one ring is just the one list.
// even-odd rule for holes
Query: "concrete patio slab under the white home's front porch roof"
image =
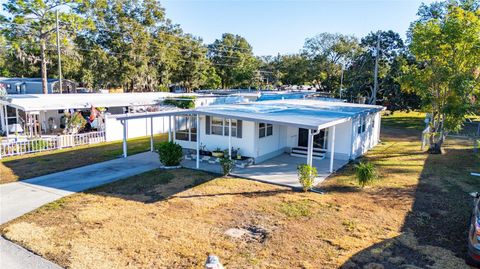
{"label": "concrete patio slab under the white home's front porch roof", "polygon": [[[288,154],[282,154],[265,162],[247,166],[245,168],[235,167],[232,176],[253,179],[265,183],[287,186],[292,188],[301,188],[297,177],[297,166],[306,163],[306,158],[294,157]],[[336,171],[348,163],[348,160],[333,161],[333,170]],[[313,165],[317,168],[318,177],[315,185],[323,182],[330,175],[330,159],[313,160]],[[184,160],[182,166],[195,169],[195,161]],[[218,164],[200,163],[200,170],[221,173],[222,168]]]}

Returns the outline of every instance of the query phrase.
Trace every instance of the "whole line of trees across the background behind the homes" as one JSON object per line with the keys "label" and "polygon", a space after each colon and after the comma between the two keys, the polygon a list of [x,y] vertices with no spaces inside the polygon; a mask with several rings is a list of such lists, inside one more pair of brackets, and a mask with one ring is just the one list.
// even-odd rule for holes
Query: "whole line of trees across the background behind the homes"
{"label": "whole line of trees across the background behind the homes", "polygon": [[0,76],[58,77],[58,10],[64,77],[92,89],[310,85],[392,111],[422,106],[443,131],[458,129],[479,110],[478,0],[422,5],[408,40],[390,30],[361,38],[320,33],[298,53],[262,57],[234,33],[205,44],[183,32],[159,0],[8,0],[3,10]]}

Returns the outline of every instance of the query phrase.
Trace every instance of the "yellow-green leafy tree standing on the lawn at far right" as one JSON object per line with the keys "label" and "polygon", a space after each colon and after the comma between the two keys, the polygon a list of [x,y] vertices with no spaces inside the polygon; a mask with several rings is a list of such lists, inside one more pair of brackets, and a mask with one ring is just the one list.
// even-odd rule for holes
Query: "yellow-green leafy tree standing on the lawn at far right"
{"label": "yellow-green leafy tree standing on the lawn at far right", "polygon": [[421,96],[431,113],[431,153],[441,153],[445,134],[459,130],[480,91],[478,1],[422,5],[409,30],[417,65],[405,68],[402,85]]}

